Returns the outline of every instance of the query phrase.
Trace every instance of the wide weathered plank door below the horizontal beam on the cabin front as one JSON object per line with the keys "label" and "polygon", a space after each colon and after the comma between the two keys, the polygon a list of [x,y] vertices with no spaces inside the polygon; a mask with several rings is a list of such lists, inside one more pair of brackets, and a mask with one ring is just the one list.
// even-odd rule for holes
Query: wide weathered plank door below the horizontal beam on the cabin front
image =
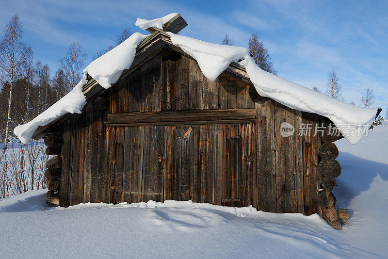
{"label": "wide weathered plank door below the horizontal beam on the cabin front", "polygon": [[256,206],[254,129],[254,123],[125,127],[122,201]]}

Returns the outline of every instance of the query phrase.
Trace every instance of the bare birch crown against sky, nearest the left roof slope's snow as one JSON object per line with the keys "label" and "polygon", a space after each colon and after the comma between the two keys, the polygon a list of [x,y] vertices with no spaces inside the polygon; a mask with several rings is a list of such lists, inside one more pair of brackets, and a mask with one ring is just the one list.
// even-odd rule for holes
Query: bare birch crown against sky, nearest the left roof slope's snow
{"label": "bare birch crown against sky, nearest the left roof slope's snow", "polygon": [[65,71],[69,80],[68,91],[73,89],[81,79],[83,61],[86,54],[83,52],[83,47],[79,42],[73,42],[67,49],[65,57],[61,58],[61,68]]}

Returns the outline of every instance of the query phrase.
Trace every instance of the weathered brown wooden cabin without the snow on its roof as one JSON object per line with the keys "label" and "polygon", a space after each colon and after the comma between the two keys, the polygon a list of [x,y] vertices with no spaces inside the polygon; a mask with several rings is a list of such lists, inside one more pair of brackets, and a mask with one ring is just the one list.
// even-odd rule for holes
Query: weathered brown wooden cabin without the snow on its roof
{"label": "weathered brown wooden cabin without the snow on its roof", "polygon": [[165,33],[186,22],[179,16],[173,25],[150,28],[111,88],[89,77],[81,114],[35,131],[55,155],[47,163],[48,204],[193,200],[319,213],[340,228],[347,210],[335,208],[331,193],[339,137],[280,132],[283,122],[299,129],[328,120],[260,97],[235,63],[208,80]]}

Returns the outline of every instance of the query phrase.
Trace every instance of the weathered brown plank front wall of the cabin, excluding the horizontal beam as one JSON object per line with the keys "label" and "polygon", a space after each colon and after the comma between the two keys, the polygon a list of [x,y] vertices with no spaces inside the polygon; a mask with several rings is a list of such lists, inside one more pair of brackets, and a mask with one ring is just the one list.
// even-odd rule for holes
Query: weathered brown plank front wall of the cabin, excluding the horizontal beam
{"label": "weathered brown plank front wall of the cabin, excluding the horizontal beam", "polygon": [[[270,99],[255,104],[249,85],[227,73],[209,81],[185,56],[154,55],[103,94],[106,111],[89,102],[62,124],[60,205],[192,199],[271,212],[320,212],[319,139],[298,136],[297,130],[280,136],[282,122],[298,129],[318,117]],[[112,113],[252,108],[253,119],[224,124],[106,124]]]}

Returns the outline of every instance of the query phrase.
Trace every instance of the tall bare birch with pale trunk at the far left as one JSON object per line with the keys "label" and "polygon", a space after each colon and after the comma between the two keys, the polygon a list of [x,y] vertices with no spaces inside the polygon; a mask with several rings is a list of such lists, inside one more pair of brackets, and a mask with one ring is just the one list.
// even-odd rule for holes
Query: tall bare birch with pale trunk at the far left
{"label": "tall bare birch with pale trunk at the far left", "polygon": [[22,37],[22,24],[19,21],[19,16],[14,15],[4,27],[4,35],[0,43],[0,68],[3,70],[6,80],[11,84],[9,90],[7,123],[5,127],[4,149],[7,149],[9,122],[11,117],[12,86],[24,61],[25,47],[21,42]]}

